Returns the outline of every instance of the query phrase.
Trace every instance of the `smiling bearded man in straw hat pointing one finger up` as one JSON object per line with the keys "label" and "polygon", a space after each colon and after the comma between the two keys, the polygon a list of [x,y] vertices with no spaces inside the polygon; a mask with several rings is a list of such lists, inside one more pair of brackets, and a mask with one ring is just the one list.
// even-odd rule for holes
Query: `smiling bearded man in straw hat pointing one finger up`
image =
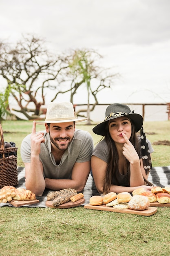
{"label": "smiling bearded man in straw hat pointing one finger up", "polygon": [[[75,129],[77,119],[70,102],[51,102],[45,121],[33,121],[32,133],[21,144],[26,189],[41,196],[44,189],[84,189],[91,170],[92,136]],[[36,132],[36,124],[45,124]]]}

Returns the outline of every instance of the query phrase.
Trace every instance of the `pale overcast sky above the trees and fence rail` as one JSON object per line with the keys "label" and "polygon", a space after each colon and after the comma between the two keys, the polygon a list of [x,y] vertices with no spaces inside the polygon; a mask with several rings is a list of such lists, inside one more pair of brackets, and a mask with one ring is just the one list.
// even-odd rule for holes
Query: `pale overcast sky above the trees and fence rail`
{"label": "pale overcast sky above the trees and fence rail", "polygon": [[0,40],[26,33],[102,54],[121,78],[100,103],[170,102],[170,0],[1,0]]}

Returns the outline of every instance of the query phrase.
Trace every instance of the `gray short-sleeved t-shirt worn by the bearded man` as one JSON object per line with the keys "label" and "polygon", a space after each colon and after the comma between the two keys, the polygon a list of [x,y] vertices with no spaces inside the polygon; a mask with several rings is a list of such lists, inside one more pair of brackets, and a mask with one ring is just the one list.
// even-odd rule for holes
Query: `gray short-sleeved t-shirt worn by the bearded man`
{"label": "gray short-sleeved t-shirt worn by the bearded man", "polygon": [[[41,143],[40,161],[43,165],[43,175],[50,179],[71,179],[75,162],[82,163],[91,160],[93,139],[89,132],[75,129],[75,134],[68,149],[62,155],[59,165],[56,165],[51,153],[49,133],[44,132],[45,142]],[[24,163],[31,162],[31,134],[27,135],[21,144],[21,157]]]}

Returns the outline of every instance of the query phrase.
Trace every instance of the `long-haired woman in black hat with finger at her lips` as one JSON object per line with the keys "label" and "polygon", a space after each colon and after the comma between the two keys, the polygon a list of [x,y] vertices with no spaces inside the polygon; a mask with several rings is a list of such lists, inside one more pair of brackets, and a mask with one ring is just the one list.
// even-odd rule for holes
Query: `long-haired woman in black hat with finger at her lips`
{"label": "long-haired woman in black hat with finger at her lips", "polygon": [[[106,109],[104,121],[93,128],[95,134],[104,136],[91,157],[92,175],[99,193],[132,193],[139,186],[151,190],[147,178],[152,168],[153,148],[142,125],[141,115],[115,103]],[[136,134],[139,130],[141,136]]]}

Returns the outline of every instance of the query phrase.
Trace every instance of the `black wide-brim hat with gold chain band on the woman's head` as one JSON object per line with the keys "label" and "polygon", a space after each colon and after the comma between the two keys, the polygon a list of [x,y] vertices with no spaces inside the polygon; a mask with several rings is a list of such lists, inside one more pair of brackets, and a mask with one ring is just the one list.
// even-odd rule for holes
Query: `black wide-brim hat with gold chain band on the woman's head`
{"label": "black wide-brim hat with gold chain band on the woman's head", "polygon": [[104,121],[93,128],[93,132],[97,135],[105,136],[106,124],[109,120],[126,116],[132,121],[135,126],[135,132],[138,132],[143,125],[143,117],[139,114],[134,113],[134,110],[131,111],[127,105],[114,103],[109,105],[106,108],[106,117]]}

